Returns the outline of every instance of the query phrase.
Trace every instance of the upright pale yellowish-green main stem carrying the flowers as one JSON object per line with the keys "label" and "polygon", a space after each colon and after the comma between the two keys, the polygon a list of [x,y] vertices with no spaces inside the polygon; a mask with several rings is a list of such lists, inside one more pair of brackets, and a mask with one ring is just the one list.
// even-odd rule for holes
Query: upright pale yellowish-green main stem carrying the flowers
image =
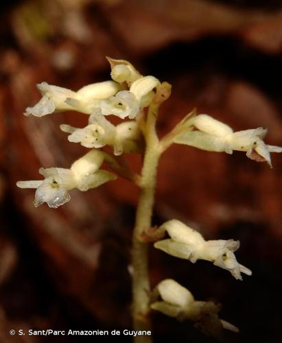
{"label": "upright pale yellowish-green main stem carrying the flowers", "polygon": [[[133,328],[134,330],[151,330],[150,324],[150,279],[148,272],[148,243],[140,240],[144,230],[152,226],[152,211],[156,189],[156,172],[161,149],[156,134],[156,117],[158,107],[167,99],[168,84],[161,84],[149,107],[145,126],[146,150],[141,172],[141,193],[137,206],[136,222],[133,232],[132,266],[133,266]],[[165,93],[165,96],[163,95]],[[150,335],[134,338],[135,343],[150,343]]]}

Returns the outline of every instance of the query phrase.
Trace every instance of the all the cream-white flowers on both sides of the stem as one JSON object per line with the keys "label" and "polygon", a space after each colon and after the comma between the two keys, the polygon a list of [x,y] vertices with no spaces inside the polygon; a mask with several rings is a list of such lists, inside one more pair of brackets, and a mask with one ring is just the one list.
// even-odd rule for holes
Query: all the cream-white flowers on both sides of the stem
{"label": "all the cream-white flowers on both sides of the stem", "polygon": [[[67,124],[60,126],[69,134],[68,139],[80,143],[91,150],[79,158],[69,169],[52,167],[40,168],[44,180],[19,181],[18,187],[36,189],[34,205],[46,202],[57,208],[70,200],[68,191],[86,191],[98,187],[116,177],[110,171],[100,169],[104,152],[99,148],[109,145],[115,155],[143,152],[143,132],[141,120],[144,108],[152,102],[155,91],[160,86],[154,76],[141,75],[129,62],[108,58],[112,80],[84,86],[77,92],[52,86],[43,82],[38,89],[43,97],[38,104],[26,109],[25,115],[43,117],[62,110],[76,110],[89,115],[88,125],[74,128]],[[117,126],[108,121],[108,115],[115,115],[124,121]],[[263,138],[266,130],[256,128],[233,132],[233,130],[209,115],[187,115],[176,128],[168,134],[170,143],[180,143],[212,152],[233,150],[244,151],[255,161],[267,161],[271,167],[270,152],[282,152],[281,147],[266,145]],[[162,144],[162,141],[160,145]],[[241,273],[252,272],[239,264],[234,252],[239,241],[205,241],[196,230],[178,220],[170,220],[156,228],[158,238],[154,247],[169,255],[187,259],[195,263],[198,259],[213,262],[214,265],[231,272],[235,279],[242,280]],[[169,238],[163,239],[168,234]],[[156,236],[157,237],[157,236]],[[206,331],[216,328],[237,331],[232,324],[218,318],[218,305],[212,302],[196,301],[188,289],[173,280],[165,280],[156,286],[155,293],[161,301],[152,301],[151,308],[167,316],[180,320],[190,319],[202,325]],[[209,318],[209,320],[207,320]],[[217,329],[218,330],[218,329]]]}

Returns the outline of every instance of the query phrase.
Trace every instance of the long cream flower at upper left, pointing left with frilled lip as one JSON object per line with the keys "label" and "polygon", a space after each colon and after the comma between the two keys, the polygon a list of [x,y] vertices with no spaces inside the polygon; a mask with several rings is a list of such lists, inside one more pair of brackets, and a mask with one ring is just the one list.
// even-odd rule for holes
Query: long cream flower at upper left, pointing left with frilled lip
{"label": "long cream flower at upper left, pointing left with frilled lip", "polygon": [[42,82],[37,88],[43,97],[33,107],[27,107],[25,115],[43,117],[56,111],[77,110],[81,113],[90,114],[95,108],[99,108],[99,100],[115,95],[121,90],[121,86],[114,81],[105,81],[84,86],[77,92]]}

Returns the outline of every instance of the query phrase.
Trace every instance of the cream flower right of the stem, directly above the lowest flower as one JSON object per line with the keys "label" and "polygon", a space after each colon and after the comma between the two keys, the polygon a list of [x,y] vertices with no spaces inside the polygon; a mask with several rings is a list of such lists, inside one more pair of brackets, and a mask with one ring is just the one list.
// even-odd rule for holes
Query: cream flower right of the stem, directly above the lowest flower
{"label": "cream flower right of the stem, directly above the lowest flower", "polygon": [[233,239],[205,241],[200,233],[178,220],[169,220],[159,229],[167,231],[171,238],[157,241],[154,247],[169,255],[188,259],[192,263],[198,259],[211,261],[214,265],[231,272],[235,279],[239,280],[242,280],[241,273],[252,274],[248,268],[237,262],[234,255],[239,248],[239,241]]}

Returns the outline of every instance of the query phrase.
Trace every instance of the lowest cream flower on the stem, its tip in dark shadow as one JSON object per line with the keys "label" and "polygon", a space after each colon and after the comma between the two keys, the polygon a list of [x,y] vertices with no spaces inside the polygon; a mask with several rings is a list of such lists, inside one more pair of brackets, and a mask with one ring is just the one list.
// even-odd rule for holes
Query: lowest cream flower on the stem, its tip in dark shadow
{"label": "lowest cream flower on the stem, its tip in dark shadow", "polygon": [[155,293],[161,297],[161,301],[153,302],[151,308],[166,316],[178,320],[193,320],[198,329],[215,337],[221,335],[222,329],[239,331],[233,324],[218,318],[220,305],[215,305],[212,301],[195,300],[187,288],[172,279],[158,283]]}

